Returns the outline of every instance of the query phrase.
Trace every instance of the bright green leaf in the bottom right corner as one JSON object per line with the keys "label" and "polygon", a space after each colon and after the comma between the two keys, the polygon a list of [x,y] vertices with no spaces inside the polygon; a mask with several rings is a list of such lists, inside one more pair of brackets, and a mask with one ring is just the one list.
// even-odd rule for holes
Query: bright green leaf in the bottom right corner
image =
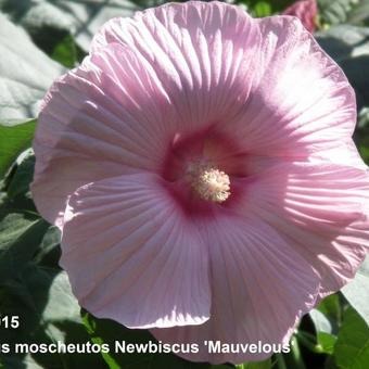
{"label": "bright green leaf in the bottom right corner", "polygon": [[353,308],[344,313],[333,355],[341,369],[368,368],[369,328]]}

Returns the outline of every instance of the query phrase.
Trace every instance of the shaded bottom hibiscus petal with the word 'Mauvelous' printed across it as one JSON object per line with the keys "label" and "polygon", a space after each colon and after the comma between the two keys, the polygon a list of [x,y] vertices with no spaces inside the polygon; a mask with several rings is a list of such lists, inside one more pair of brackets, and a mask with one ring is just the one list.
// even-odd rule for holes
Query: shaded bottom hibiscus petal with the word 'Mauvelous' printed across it
{"label": "shaded bottom hibiscus petal with the word 'Mauvelous' printed across it", "polygon": [[[224,216],[202,225],[211,245],[212,314],[202,326],[153,329],[156,339],[199,344],[180,354],[213,364],[262,360],[271,352],[209,353],[204,341],[220,344],[288,343],[298,318],[314,305],[319,288],[313,268],[278,236],[250,217]],[[234,348],[233,348],[234,349]]]}

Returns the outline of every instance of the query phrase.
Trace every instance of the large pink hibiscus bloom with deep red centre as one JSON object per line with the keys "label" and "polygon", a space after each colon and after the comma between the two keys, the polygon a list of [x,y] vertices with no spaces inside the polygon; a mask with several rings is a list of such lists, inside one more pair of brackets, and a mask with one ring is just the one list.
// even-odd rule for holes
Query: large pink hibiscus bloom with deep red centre
{"label": "large pink hibiscus bloom with deep red centre", "polygon": [[54,82],[34,199],[81,306],[190,360],[203,342],[287,343],[368,246],[355,94],[297,18],[219,2],[110,21]]}

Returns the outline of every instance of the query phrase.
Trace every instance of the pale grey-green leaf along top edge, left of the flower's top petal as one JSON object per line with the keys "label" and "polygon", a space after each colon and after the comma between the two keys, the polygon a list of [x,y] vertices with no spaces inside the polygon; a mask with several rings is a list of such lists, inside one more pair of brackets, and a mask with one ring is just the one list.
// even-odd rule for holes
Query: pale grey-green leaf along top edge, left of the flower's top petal
{"label": "pale grey-green leaf along top edge, left of the flower's top petal", "polygon": [[[129,0],[39,0],[26,7],[23,0],[2,0],[0,10],[11,15],[36,38],[44,30],[66,30],[88,51],[93,35],[109,20],[129,16],[141,9],[139,1]],[[145,2],[148,5],[148,3]],[[44,42],[44,40],[43,40]]]}

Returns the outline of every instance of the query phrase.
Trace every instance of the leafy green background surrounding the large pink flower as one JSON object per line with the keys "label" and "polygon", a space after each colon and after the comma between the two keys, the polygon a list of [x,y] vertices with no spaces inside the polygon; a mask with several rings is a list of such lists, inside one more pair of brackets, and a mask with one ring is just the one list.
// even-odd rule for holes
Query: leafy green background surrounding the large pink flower
{"label": "leafy green background surrounding the large pink flower", "polygon": [[[35,157],[29,150],[40,99],[52,80],[75,67],[91,38],[114,16],[164,3],[162,0],[0,0],[0,367],[226,369],[174,355],[15,354],[15,343],[148,342],[149,332],[128,330],[92,317],[72,295],[58,265],[60,232],[37,213],[29,192]],[[236,0],[254,16],[282,13],[289,0]],[[355,88],[355,142],[369,163],[369,0],[319,0],[315,36]],[[305,316],[290,354],[254,369],[369,368],[369,267],[340,293]],[[5,317],[18,316],[12,328]],[[271,328],[272,329],[272,328]],[[9,351],[5,345],[9,345]]]}

